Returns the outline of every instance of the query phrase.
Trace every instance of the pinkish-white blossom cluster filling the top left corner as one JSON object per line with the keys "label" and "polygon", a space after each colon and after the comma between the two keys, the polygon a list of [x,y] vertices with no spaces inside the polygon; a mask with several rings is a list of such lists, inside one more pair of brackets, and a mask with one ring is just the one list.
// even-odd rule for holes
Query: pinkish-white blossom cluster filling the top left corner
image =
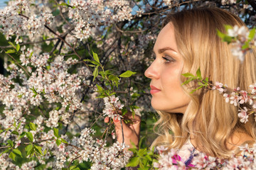
{"label": "pinkish-white blossom cluster filling the top left corner", "polygon": [[[50,12],[29,15],[31,13],[29,6],[31,6],[29,1],[18,0],[0,9],[0,31],[6,35],[7,40],[12,35],[16,35],[16,43],[21,42],[20,36],[33,37],[34,34],[42,33],[45,25],[53,22],[53,14]],[[24,14],[29,15],[29,18]]]}

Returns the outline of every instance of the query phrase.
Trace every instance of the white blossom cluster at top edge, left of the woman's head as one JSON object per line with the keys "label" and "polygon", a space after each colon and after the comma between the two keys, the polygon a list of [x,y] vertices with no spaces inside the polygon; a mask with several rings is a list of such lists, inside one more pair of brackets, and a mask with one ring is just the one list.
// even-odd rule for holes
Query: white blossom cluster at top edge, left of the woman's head
{"label": "white blossom cluster at top edge, left of the woman's head", "polygon": [[[130,20],[132,8],[126,0],[114,1],[71,1],[68,17],[73,21],[75,37],[83,40],[95,32],[95,27],[110,26],[111,23]],[[75,7],[75,8],[73,8]]]}

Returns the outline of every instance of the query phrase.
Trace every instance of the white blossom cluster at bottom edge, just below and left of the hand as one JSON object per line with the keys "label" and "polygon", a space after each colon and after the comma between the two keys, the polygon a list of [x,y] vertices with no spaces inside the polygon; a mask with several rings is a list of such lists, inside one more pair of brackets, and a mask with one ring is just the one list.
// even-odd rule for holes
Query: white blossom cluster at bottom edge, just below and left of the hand
{"label": "white blossom cluster at bottom edge, just below and left of the hand", "polygon": [[[118,142],[111,147],[106,147],[103,140],[92,137],[95,130],[85,128],[81,131],[80,137],[73,137],[70,142],[56,145],[54,141],[48,139],[54,137],[53,130],[48,133],[43,132],[41,135],[41,145],[43,150],[47,149],[55,155],[55,162],[53,167],[55,169],[62,169],[66,162],[72,162],[77,159],[79,163],[92,162],[90,169],[121,169],[127,164],[131,154],[125,152],[124,144],[120,145]],[[63,138],[68,138],[62,136]],[[45,140],[45,141],[44,141]],[[49,156],[49,155],[48,155]],[[44,161],[47,157],[41,157]]]}

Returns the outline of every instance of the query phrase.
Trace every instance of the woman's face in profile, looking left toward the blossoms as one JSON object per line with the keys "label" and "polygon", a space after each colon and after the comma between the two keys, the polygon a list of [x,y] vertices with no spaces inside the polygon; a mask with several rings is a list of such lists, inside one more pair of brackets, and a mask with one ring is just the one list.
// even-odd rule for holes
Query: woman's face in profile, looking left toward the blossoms
{"label": "woman's face in profile, looking left toward the blossoms", "polygon": [[151,79],[151,106],[157,111],[185,113],[191,99],[181,89],[183,58],[177,49],[172,23],[160,31],[154,53],[156,58],[145,72]]}

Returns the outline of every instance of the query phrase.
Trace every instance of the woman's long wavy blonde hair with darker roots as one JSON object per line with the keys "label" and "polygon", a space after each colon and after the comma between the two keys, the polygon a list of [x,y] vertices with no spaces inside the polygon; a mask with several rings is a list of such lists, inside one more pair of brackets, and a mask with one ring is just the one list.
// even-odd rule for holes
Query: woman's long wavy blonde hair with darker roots
{"label": "woman's long wavy blonde hair with darker roots", "polygon": [[[227,84],[230,89],[240,87],[248,91],[256,80],[256,52],[247,52],[240,62],[231,52],[231,45],[222,42],[217,29],[225,33],[224,25],[245,26],[238,16],[220,8],[183,10],[166,17],[164,26],[172,23],[178,52],[184,60],[183,73],[196,74],[200,67],[203,78]],[[181,83],[186,79],[181,76]],[[225,103],[218,91],[201,89],[193,94],[193,84],[183,85],[191,97],[184,114],[158,111],[159,137],[152,146],[164,145],[181,148],[193,132],[194,140],[202,152],[214,157],[230,157],[227,142],[234,132],[241,132],[256,140],[255,120],[249,116],[247,123],[240,123],[238,107]]]}

